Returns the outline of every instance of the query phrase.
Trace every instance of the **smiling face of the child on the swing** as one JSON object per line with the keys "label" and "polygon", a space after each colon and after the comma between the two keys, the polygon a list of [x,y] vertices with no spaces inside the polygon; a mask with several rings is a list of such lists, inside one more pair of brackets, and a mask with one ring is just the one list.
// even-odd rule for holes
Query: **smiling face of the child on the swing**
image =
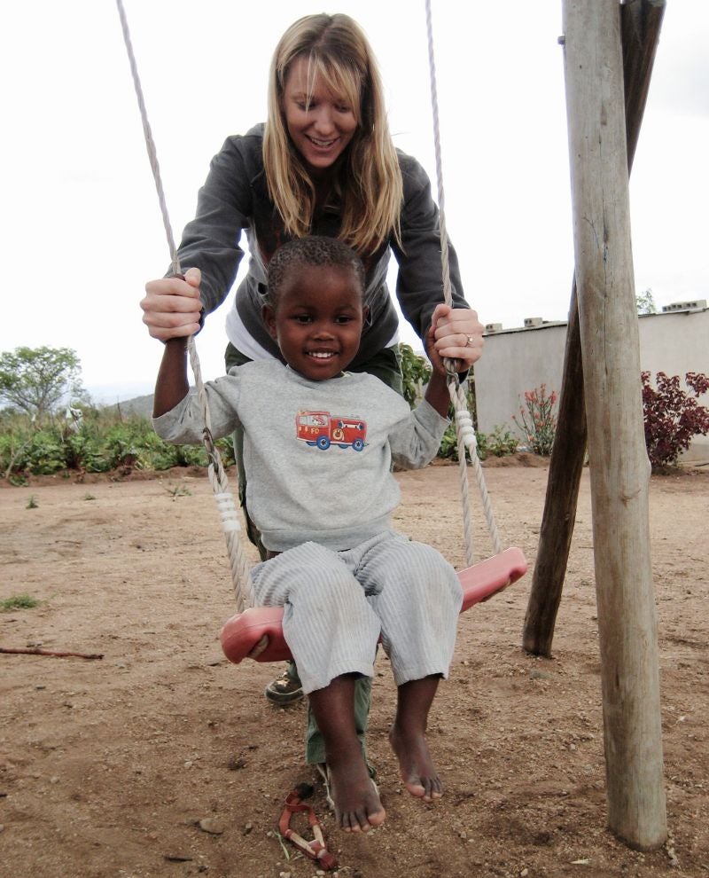
{"label": "smiling face of the child on the swing", "polygon": [[334,378],[360,346],[362,287],[351,269],[293,266],[276,310],[265,306],[263,318],[292,369],[310,380]]}

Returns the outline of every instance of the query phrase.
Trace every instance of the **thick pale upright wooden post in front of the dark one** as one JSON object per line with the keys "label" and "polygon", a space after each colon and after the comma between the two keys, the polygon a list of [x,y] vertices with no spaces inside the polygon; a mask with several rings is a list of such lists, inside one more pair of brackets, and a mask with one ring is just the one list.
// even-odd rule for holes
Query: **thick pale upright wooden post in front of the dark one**
{"label": "thick pale upright wooden post in front of the dark one", "polygon": [[620,6],[564,0],[563,10],[608,826],[650,849],[667,831]]}

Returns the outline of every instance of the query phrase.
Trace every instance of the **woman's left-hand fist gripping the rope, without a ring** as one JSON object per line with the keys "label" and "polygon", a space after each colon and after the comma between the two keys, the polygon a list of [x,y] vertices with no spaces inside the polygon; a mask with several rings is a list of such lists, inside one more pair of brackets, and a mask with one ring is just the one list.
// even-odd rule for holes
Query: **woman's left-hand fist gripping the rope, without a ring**
{"label": "woman's left-hand fist gripping the rope, without a ring", "polygon": [[143,322],[154,339],[184,338],[199,332],[202,302],[199,284],[202,272],[191,268],[182,278],[160,278],[145,284],[140,302]]}

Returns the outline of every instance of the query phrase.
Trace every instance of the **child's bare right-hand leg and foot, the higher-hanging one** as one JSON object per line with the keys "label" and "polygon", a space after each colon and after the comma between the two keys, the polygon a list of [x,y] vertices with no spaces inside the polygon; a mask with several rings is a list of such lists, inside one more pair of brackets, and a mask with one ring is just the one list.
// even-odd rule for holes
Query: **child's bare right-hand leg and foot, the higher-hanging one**
{"label": "child's bare right-hand leg and foot, the higher-hanging one", "polygon": [[443,795],[443,784],[436,772],[426,742],[426,722],[440,677],[431,676],[402,683],[398,690],[396,717],[389,730],[389,741],[399,759],[401,780],[412,796],[432,802]]}

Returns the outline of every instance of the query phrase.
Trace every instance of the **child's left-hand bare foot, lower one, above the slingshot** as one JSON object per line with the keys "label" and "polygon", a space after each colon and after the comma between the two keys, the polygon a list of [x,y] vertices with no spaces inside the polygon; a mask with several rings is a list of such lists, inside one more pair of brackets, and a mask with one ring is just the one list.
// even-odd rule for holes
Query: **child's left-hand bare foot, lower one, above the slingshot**
{"label": "child's left-hand bare foot, lower one, above the slingshot", "polygon": [[361,756],[343,762],[331,760],[328,768],[335,819],[341,829],[368,832],[384,823],[386,811]]}

